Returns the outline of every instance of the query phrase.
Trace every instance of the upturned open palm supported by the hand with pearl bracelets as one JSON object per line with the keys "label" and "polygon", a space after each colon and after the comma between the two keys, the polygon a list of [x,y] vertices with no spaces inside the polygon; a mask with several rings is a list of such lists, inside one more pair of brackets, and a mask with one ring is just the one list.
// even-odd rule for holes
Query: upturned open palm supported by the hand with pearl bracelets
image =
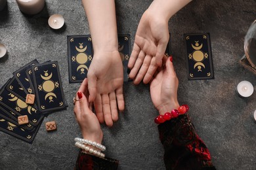
{"label": "upturned open palm supported by the hand with pearl bracelets", "polygon": [[95,105],[100,123],[112,126],[124,109],[123,63],[118,51],[95,52],[88,71],[89,102]]}

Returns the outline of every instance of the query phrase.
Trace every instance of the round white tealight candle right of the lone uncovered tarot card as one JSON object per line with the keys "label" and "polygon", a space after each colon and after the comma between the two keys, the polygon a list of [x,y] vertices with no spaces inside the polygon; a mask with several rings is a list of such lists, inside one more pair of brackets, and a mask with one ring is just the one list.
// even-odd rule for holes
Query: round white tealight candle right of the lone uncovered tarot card
{"label": "round white tealight candle right of the lone uncovered tarot card", "polygon": [[237,92],[241,97],[249,97],[253,94],[253,84],[248,81],[242,81],[237,86]]}

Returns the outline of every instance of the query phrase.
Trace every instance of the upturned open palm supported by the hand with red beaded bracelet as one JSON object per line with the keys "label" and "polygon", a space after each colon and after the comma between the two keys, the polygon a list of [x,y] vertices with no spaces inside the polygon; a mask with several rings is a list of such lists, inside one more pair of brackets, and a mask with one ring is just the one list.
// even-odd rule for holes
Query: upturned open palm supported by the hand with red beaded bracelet
{"label": "upturned open palm supported by the hand with red beaded bracelet", "polygon": [[154,10],[146,10],[140,19],[128,63],[129,77],[134,79],[134,84],[139,84],[142,79],[144,84],[150,82],[161,66],[168,41],[168,20],[156,16]]}

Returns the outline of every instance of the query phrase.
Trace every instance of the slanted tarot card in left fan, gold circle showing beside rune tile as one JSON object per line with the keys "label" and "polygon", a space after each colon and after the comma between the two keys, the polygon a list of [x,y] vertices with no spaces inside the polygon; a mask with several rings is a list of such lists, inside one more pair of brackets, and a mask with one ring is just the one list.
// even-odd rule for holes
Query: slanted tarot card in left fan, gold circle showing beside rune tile
{"label": "slanted tarot card in left fan, gold circle showing beside rune tile", "polygon": [[28,105],[23,99],[7,90],[7,86],[3,86],[0,90],[0,107],[5,107],[10,110],[9,114],[14,120],[18,120],[18,116],[27,115],[30,124],[36,126],[43,120],[43,115],[40,112]]}

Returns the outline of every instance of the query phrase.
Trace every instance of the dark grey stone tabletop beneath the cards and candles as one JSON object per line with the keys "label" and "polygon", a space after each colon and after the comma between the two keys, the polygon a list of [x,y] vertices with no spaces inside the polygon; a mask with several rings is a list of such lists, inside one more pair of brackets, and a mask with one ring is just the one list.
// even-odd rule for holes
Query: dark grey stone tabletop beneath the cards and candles
{"label": "dark grey stone tabletop beneath the cards and candles", "polygon": [[[29,61],[58,61],[68,109],[43,120],[33,144],[0,132],[0,169],[73,169],[78,149],[74,138],[81,136],[75,122],[72,98],[79,84],[68,83],[67,35],[89,34],[81,1],[46,0],[40,14],[24,16],[14,0],[0,12],[0,42],[8,57],[0,62],[0,86],[12,72]],[[151,1],[116,1],[119,33],[130,33],[132,44],[140,16]],[[244,36],[256,16],[256,1],[193,1],[169,21],[174,65],[179,77],[179,102],[190,106],[190,116],[207,144],[217,169],[255,169],[256,92],[238,97],[242,80],[256,86],[256,76],[238,63],[244,54]],[[47,20],[62,14],[66,25],[53,31]],[[184,33],[209,32],[214,80],[189,81],[186,76]],[[164,169],[163,148],[154,118],[158,112],[150,100],[148,85],[124,84],[125,111],[112,128],[102,126],[106,156],[119,159],[119,169]],[[47,133],[45,122],[55,120],[58,130]]]}

